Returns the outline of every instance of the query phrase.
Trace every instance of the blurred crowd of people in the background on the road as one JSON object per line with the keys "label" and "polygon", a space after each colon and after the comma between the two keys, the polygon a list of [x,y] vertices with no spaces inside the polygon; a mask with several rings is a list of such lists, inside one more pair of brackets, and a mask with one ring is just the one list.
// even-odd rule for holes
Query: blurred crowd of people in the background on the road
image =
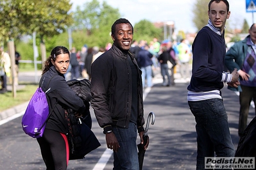
{"label": "blurred crowd of people in the background on the road", "polygon": [[[111,47],[112,43],[107,43],[105,48],[83,45],[81,50],[76,50],[73,47],[71,49],[69,75],[66,73],[67,79],[87,78],[90,80],[91,64]],[[135,59],[142,70],[143,88],[152,86],[155,70],[160,70],[163,79],[162,86],[175,86],[174,73],[177,70],[180,72],[182,79],[188,80],[191,77],[189,63],[192,59],[192,53],[186,40],[181,40],[180,43],[171,41],[161,43],[157,38],[153,38],[150,42],[133,40],[130,52],[135,54]],[[171,62],[171,66],[167,66],[167,61]]]}

